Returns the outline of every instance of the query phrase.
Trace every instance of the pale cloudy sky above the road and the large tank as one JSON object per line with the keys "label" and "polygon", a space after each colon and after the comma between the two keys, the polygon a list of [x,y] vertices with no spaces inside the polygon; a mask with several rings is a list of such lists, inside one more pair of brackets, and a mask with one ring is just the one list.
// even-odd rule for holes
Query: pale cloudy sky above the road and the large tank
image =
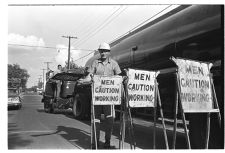
{"label": "pale cloudy sky above the road and the large tank", "polygon": [[42,69],[47,68],[45,62],[51,62],[53,71],[58,64],[65,65],[69,39],[62,36],[77,37],[71,39],[71,58],[84,66],[100,43],[110,43],[165,8],[151,20],[177,6],[9,5],[8,64],[28,71],[27,87],[37,85]]}

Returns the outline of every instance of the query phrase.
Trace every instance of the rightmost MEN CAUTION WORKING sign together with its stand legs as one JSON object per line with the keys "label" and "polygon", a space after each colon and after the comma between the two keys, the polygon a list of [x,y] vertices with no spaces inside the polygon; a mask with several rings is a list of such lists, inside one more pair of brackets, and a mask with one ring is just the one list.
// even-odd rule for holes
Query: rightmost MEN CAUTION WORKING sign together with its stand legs
{"label": "rightmost MEN CAUTION WORKING sign together with its stand legs", "polygon": [[[218,113],[220,116],[219,106],[213,88],[212,76],[210,74],[212,64],[173,57],[171,60],[178,66],[178,71],[176,73],[178,98],[175,101],[173,148],[175,148],[176,144],[178,105],[181,111],[188,148],[191,148],[191,145],[187,131],[185,113],[207,113],[207,131],[205,140],[205,148],[207,149],[210,135],[210,113]],[[216,107],[214,107],[214,103],[216,104]]]}

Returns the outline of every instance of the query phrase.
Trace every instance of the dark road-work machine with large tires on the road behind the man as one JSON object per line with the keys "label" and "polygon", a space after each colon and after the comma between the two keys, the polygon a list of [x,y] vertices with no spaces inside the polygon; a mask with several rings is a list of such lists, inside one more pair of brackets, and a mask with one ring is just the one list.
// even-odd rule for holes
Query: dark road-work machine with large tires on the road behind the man
{"label": "dark road-work machine with large tires on the road behind the man", "polygon": [[[87,97],[84,94],[78,94],[82,88],[77,85],[77,80],[84,77],[84,74],[85,71],[82,68],[67,70],[56,75],[53,75],[52,71],[48,71],[42,98],[45,112],[56,113],[59,110],[72,109],[76,118],[87,118],[90,110],[85,102],[89,100],[86,100]],[[57,83],[61,84],[59,95],[56,94]]]}

